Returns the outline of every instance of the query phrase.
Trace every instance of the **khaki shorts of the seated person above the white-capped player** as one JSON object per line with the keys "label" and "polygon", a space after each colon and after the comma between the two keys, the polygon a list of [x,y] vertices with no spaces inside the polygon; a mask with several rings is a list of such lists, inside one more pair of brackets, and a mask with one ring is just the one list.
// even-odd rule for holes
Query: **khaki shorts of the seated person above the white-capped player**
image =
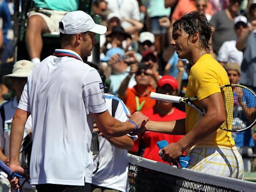
{"label": "khaki shorts of the seated person above the white-capped player", "polygon": [[28,17],[30,17],[32,15],[40,15],[44,19],[50,32],[58,32],[59,33],[58,22],[67,13],[67,11],[48,10],[48,9],[40,9],[40,11],[49,13],[50,16],[47,16],[46,14],[43,14],[41,12],[36,12],[36,11],[32,10],[32,11],[28,12]]}

